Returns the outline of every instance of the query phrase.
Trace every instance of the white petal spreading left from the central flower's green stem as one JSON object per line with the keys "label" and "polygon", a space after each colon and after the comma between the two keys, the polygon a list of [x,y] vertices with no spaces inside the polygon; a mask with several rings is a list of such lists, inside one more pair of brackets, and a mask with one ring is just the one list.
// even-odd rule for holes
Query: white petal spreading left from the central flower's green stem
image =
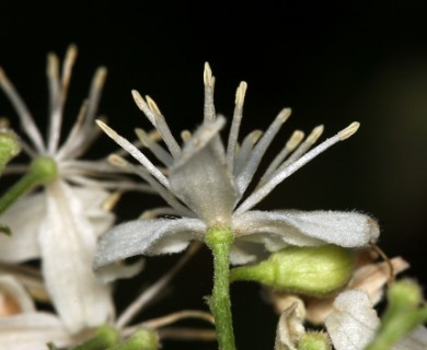
{"label": "white petal spreading left from the central flower's green stem", "polygon": [[206,229],[196,219],[134,220],[119,224],[101,236],[94,268],[140,254],[182,252],[191,240],[201,240]]}

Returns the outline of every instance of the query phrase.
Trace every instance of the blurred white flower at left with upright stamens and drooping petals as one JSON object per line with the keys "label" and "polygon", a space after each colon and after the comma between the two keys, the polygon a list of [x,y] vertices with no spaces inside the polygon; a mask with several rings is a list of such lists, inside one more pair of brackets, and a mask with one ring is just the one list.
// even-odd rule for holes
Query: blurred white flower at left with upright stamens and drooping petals
{"label": "blurred white flower at left with upright stamens and drooping petals", "polygon": [[[33,161],[48,160],[54,168],[53,180],[42,191],[19,199],[2,214],[1,221],[11,228],[13,235],[0,235],[0,261],[42,260],[47,291],[71,334],[104,324],[114,315],[109,287],[97,279],[91,265],[97,236],[114,221],[114,215],[102,209],[102,203],[109,196],[106,189],[129,186],[129,183],[113,177],[117,170],[107,162],[79,160],[99,135],[93,121],[106,77],[105,68],[96,71],[89,98],[59,145],[76,56],[77,48],[70,46],[60,74],[57,56],[48,55],[50,110],[46,140],[25,103],[0,69],[0,86],[16,109],[30,140],[30,143],[22,140],[23,151]],[[27,165],[12,164],[7,171],[27,168]]]}

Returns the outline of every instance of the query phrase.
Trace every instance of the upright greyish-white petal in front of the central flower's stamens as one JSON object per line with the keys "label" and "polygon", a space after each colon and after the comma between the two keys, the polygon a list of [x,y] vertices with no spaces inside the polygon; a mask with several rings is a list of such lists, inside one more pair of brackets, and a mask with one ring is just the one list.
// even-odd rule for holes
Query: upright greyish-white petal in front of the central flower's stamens
{"label": "upright greyish-white petal in front of the central flower's stamens", "polygon": [[169,176],[172,190],[209,226],[230,224],[238,198],[218,137],[223,124],[223,118],[205,121],[186,142]]}

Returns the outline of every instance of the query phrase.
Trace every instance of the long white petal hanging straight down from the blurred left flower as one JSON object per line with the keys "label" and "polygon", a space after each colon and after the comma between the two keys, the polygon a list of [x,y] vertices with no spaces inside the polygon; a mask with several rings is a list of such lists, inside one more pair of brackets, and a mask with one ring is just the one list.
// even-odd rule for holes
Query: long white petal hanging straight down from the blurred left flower
{"label": "long white petal hanging straight down from the blurred left flower", "polygon": [[72,187],[56,182],[46,191],[47,214],[39,245],[47,290],[71,332],[99,326],[114,312],[109,288],[92,271],[95,228]]}

